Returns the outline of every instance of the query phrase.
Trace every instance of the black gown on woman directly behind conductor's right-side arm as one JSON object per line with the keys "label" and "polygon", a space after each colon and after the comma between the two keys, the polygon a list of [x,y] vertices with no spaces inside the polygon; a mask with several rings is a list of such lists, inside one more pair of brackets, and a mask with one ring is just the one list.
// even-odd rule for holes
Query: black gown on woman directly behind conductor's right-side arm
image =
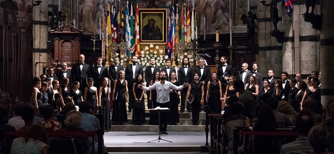
{"label": "black gown on woman directly behind conductor's right-side arm", "polygon": [[[176,86],[180,86],[180,82],[172,82]],[[170,112],[168,113],[168,122],[171,124],[176,124],[180,122],[179,117],[179,104],[180,104],[180,97],[177,96],[178,90],[173,90],[174,93],[169,93],[169,109]]]}

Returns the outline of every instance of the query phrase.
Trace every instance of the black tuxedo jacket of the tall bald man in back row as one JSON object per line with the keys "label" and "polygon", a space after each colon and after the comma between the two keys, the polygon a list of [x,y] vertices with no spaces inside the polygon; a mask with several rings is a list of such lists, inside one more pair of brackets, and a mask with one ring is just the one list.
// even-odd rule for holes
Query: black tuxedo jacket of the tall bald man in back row
{"label": "black tuxedo jacket of the tall bald man in back row", "polygon": [[90,66],[87,63],[83,63],[82,70],[80,70],[80,63],[75,63],[72,66],[72,80],[78,81],[80,87],[87,87],[87,78],[90,77]]}

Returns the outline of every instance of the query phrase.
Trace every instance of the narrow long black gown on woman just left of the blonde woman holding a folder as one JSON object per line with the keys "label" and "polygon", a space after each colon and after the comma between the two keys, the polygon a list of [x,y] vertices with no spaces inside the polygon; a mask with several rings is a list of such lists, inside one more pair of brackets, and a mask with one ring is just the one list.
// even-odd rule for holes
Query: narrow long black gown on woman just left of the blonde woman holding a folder
{"label": "narrow long black gown on woman just left of the blonde woman holding a folder", "polygon": [[[93,89],[92,89],[93,90]],[[95,92],[95,90],[94,90]],[[88,93],[87,93],[88,94]],[[109,102],[109,88],[107,92],[105,91],[105,88],[102,87],[102,94],[101,94],[101,106],[102,106],[102,112],[104,117],[104,126],[103,129],[110,129],[110,102]],[[94,95],[95,97],[95,95]],[[96,102],[95,102],[96,105]]]}

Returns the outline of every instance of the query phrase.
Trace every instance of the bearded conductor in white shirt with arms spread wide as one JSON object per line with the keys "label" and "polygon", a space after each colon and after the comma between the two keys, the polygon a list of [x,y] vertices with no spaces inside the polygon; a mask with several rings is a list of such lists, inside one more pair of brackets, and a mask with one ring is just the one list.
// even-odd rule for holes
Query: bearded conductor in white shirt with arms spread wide
{"label": "bearded conductor in white shirt with arms spread wide", "polygon": [[[138,85],[139,88],[144,89],[145,91],[150,91],[153,89],[157,90],[157,102],[158,106],[161,108],[169,107],[169,93],[170,89],[181,90],[188,86],[188,83],[184,83],[181,86],[175,86],[173,83],[166,81],[166,72],[160,72],[160,82],[154,83],[150,87],[143,87],[141,84]],[[168,113],[162,112],[160,117],[160,134],[168,134],[167,133],[167,121],[168,121]]]}

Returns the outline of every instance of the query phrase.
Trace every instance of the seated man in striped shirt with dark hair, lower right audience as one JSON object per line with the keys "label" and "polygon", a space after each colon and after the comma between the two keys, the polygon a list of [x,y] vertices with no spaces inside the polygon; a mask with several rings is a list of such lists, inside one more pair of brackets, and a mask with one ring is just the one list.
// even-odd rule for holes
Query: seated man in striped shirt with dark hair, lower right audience
{"label": "seated man in striped shirt with dark hair, lower right audience", "polygon": [[281,147],[280,154],[308,154],[312,151],[312,147],[307,137],[310,129],[314,126],[314,119],[312,116],[301,112],[301,114],[296,117],[295,126],[298,138],[291,143],[284,144]]}

